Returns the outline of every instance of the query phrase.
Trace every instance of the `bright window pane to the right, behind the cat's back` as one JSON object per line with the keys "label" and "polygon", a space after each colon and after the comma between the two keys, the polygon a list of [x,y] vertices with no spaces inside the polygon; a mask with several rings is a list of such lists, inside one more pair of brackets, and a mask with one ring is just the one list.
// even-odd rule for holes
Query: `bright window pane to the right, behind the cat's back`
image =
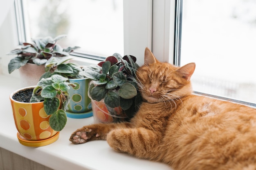
{"label": "bright window pane to the right, behind the cat's back", "polygon": [[256,0],[183,0],[181,65],[194,91],[256,103]]}

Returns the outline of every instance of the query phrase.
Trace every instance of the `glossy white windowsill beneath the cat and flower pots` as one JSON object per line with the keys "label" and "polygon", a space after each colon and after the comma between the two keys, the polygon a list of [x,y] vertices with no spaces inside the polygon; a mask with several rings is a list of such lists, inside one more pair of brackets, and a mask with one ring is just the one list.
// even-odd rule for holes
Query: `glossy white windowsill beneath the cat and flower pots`
{"label": "glossy white windowsill beneath the cat and flower pots", "polygon": [[0,147],[55,170],[170,170],[163,164],[117,153],[106,141],[74,145],[69,137],[76,129],[93,123],[93,117],[67,119],[59,139],[38,148],[23,146],[16,137],[9,95],[20,88],[17,78],[0,74]]}

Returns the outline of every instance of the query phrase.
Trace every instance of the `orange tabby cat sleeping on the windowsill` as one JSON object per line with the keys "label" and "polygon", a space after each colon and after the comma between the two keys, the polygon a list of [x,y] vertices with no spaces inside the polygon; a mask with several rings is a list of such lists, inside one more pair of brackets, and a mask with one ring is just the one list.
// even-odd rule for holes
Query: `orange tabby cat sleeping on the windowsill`
{"label": "orange tabby cat sleeping on the windowsill", "polygon": [[176,67],[146,48],[137,82],[145,102],[130,122],[76,130],[74,144],[104,139],[116,151],[175,170],[256,170],[256,110],[192,94],[195,63]]}

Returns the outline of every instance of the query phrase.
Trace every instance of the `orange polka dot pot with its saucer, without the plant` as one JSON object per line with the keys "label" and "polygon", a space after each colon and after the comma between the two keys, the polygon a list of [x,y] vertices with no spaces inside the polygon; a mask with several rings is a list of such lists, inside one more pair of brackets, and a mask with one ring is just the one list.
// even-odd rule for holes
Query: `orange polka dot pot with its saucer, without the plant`
{"label": "orange polka dot pot with its saucer, without the plant", "polygon": [[25,146],[45,146],[55,142],[59,133],[49,125],[49,118],[43,108],[43,102],[18,102],[13,95],[24,89],[34,89],[36,86],[25,87],[10,95],[11,107],[18,140]]}

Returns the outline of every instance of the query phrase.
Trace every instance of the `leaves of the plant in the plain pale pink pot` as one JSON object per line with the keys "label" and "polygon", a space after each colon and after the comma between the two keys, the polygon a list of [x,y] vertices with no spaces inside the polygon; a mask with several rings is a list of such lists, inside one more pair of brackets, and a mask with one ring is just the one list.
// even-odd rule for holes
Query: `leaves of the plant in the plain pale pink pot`
{"label": "leaves of the plant in the plain pale pink pot", "polygon": [[56,44],[58,40],[64,37],[66,37],[66,35],[60,35],[56,38],[44,37],[31,39],[30,43],[25,42],[20,48],[9,52],[7,55],[18,55],[17,57],[11,59],[8,64],[9,74],[26,63],[43,65],[51,57],[69,56],[70,52],[73,52],[75,49],[79,48],[77,46],[62,48],[60,45]]}

